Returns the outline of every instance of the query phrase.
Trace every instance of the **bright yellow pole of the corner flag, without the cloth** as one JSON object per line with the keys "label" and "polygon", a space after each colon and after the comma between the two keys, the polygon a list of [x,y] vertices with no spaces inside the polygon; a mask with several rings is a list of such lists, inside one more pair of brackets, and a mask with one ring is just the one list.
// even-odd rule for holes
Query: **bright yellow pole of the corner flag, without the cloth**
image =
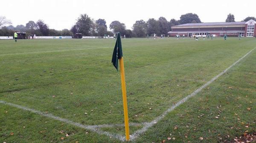
{"label": "bright yellow pole of the corner flag, without the cloth", "polygon": [[123,106],[124,106],[124,116],[125,116],[125,136],[126,136],[126,141],[129,141],[130,133],[129,133],[128,107],[127,107],[126,85],[125,85],[125,67],[124,67],[124,60],[122,57],[119,59],[119,62],[120,62],[122,96],[123,96]]}

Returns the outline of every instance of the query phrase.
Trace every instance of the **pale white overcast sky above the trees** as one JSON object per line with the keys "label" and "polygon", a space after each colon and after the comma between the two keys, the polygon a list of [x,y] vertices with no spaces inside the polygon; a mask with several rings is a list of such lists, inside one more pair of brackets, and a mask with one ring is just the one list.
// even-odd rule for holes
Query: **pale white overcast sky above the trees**
{"label": "pale white overcast sky above the trees", "polygon": [[202,22],[224,22],[227,14],[236,21],[256,17],[256,0],[1,0],[0,16],[13,25],[26,25],[29,20],[44,20],[49,28],[70,29],[79,14],[94,20],[105,19],[107,26],[114,20],[131,29],[136,20],[179,20],[186,13],[198,14]]}

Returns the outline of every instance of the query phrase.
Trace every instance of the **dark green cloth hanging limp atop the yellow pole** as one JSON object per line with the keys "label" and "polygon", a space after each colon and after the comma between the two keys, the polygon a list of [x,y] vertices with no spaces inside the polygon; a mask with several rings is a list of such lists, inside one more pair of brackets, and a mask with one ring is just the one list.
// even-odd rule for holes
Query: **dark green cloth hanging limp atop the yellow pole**
{"label": "dark green cloth hanging limp atop the yellow pole", "polygon": [[121,35],[120,33],[116,33],[116,45],[113,51],[112,63],[116,70],[118,70],[118,60],[122,57],[122,43],[121,43]]}

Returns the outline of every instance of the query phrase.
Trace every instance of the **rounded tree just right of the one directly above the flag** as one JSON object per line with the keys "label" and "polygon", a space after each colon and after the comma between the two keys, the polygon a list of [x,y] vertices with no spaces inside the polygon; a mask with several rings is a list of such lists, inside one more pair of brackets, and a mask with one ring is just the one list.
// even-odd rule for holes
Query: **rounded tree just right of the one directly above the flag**
{"label": "rounded tree just right of the one directly above the flag", "polygon": [[137,20],[133,25],[133,32],[137,37],[144,37],[147,33],[147,24],[144,20]]}

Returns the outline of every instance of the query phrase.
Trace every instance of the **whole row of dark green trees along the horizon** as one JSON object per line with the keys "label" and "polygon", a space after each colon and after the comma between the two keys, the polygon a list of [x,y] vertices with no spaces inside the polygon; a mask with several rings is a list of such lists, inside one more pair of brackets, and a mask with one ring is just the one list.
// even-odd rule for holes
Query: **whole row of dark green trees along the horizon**
{"label": "whole row of dark green trees along the horizon", "polygon": [[[243,21],[256,20],[255,17],[246,17]],[[233,14],[228,14],[226,22],[235,22]],[[137,20],[132,30],[126,29],[124,23],[119,21],[112,21],[109,25],[111,31],[108,31],[106,21],[104,19],[94,20],[87,14],[80,14],[76,20],[76,24],[73,25],[70,30],[63,29],[61,31],[55,29],[49,29],[49,26],[43,21],[38,20],[36,22],[29,21],[26,25],[12,26],[12,22],[7,20],[6,17],[0,17],[0,36],[13,36],[14,31],[26,32],[28,35],[36,36],[73,36],[76,33],[81,33],[83,36],[113,36],[114,33],[120,32],[121,35],[126,37],[145,37],[151,34],[167,34],[171,31],[171,27],[174,25],[186,24],[186,23],[201,23],[197,14],[183,14],[180,16],[180,20],[171,19],[166,20],[165,17],[159,17],[158,19],[150,18],[147,21]],[[9,26],[5,26],[9,25]]]}

